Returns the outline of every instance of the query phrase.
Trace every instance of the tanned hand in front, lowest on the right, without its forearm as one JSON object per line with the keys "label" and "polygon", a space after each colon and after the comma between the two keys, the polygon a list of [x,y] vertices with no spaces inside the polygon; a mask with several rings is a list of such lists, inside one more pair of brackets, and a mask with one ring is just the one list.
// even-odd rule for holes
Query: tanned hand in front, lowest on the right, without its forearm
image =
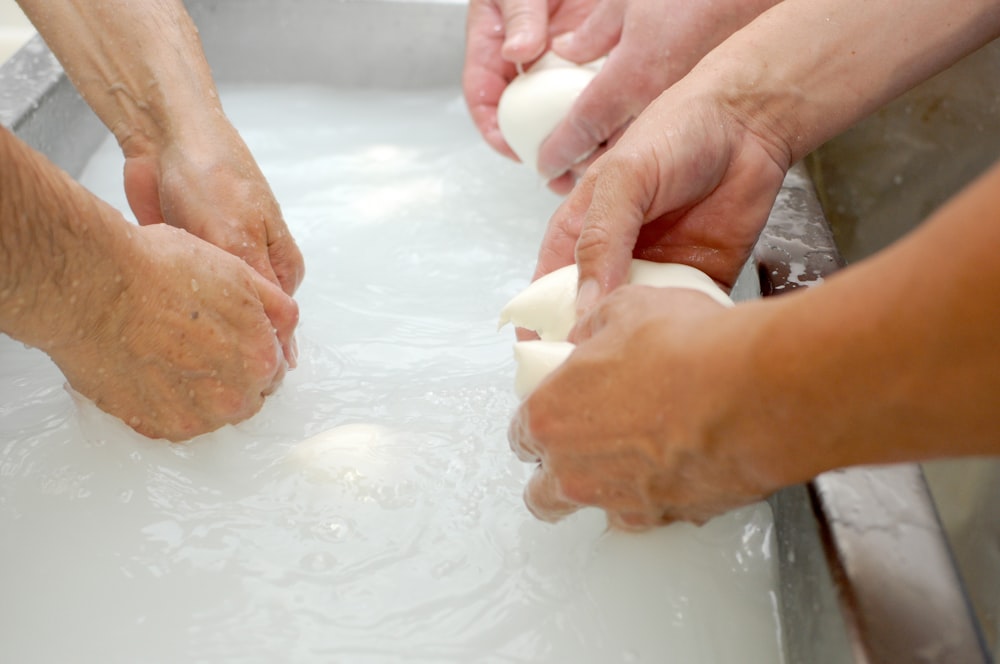
{"label": "tanned hand in front, lowest on the right, without its forearm", "polygon": [[[744,330],[734,312],[682,289],[624,286],[582,319],[570,358],[521,404],[509,431],[539,465],[525,502],[557,521],[585,506],[612,527],[704,522],[777,489],[753,451],[725,436]],[[638,350],[637,349],[641,349]]]}

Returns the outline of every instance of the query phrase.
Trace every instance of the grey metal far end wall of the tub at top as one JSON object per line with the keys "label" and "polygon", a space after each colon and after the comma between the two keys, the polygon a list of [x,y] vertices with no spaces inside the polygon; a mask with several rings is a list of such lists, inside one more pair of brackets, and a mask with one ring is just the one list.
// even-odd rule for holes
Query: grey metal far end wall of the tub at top
{"label": "grey metal far end wall of the tub at top", "polygon": [[[184,4],[198,26],[213,71],[227,83],[281,81],[405,90],[452,87],[462,80],[467,0],[185,0]],[[317,58],[317,53],[324,57]],[[371,54],[378,57],[366,57]]]}

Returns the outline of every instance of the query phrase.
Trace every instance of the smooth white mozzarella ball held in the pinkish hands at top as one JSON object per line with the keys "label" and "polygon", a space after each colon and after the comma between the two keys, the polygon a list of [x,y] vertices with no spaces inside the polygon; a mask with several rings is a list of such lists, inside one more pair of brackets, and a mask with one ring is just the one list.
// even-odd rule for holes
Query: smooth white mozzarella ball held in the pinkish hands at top
{"label": "smooth white mozzarella ball held in the pinkish hands at top", "polygon": [[538,168],[538,148],[603,64],[604,58],[577,65],[549,52],[511,81],[500,95],[500,133],[526,166]]}

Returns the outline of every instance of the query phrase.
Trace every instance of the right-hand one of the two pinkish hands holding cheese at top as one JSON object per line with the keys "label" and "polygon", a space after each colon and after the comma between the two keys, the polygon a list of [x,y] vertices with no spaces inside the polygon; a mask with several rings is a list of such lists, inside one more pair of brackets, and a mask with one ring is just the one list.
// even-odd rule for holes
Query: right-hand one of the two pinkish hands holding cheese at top
{"label": "right-hand one of the two pinkish hands holding cheese at top", "polygon": [[579,26],[552,41],[552,50],[572,62],[608,60],[542,144],[539,170],[549,186],[568,193],[653,99],[775,3],[599,0]]}

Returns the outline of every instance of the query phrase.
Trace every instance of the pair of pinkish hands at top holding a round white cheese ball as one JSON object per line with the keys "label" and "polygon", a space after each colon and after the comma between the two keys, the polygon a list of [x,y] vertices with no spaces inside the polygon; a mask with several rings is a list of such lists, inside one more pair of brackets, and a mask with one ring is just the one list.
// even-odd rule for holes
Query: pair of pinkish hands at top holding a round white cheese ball
{"label": "pair of pinkish hands at top holding a round white cheese ball", "polygon": [[553,191],[568,193],[661,92],[776,0],[473,0],[463,73],[466,103],[494,149],[516,159],[497,126],[497,104],[517,65],[551,49],[572,62],[608,56],[539,151]]}

